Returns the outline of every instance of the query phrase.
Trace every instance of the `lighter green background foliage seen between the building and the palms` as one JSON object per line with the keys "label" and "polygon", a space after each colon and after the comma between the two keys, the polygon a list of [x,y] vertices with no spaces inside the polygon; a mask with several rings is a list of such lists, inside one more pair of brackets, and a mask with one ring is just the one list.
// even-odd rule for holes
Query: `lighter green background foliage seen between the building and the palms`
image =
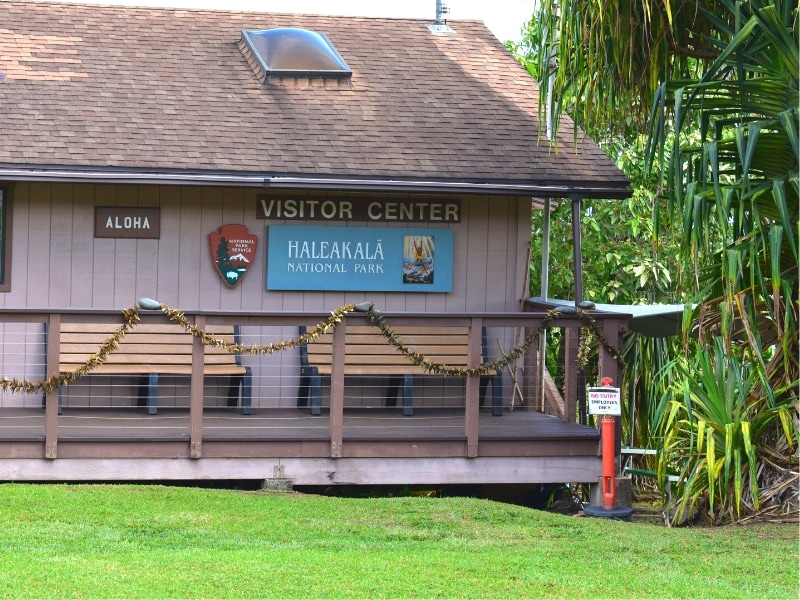
{"label": "lighter green background foliage seen between the building and the palms", "polygon": [[[528,70],[537,74],[537,52],[544,32],[534,16],[519,44],[509,44]],[[567,93],[567,92],[564,92]],[[616,165],[631,181],[633,195],[627,200],[585,200],[581,215],[584,257],[584,298],[612,304],[679,304],[682,279],[679,259],[680,224],[657,217],[666,209],[660,175],[649,169],[645,158],[647,136],[629,138],[606,133],[598,139]],[[553,201],[550,219],[550,270],[548,296],[574,297],[574,264],[570,202]],[[541,295],[543,212],[535,212],[531,226],[531,296]],[[559,332],[548,337],[548,369],[556,381],[562,368]],[[623,357],[626,369],[621,386],[629,407],[623,414],[625,443],[650,445],[657,433],[652,412],[667,384],[657,376],[681,347],[674,338],[627,335]],[[592,374],[589,381],[593,382]],[[654,465],[651,465],[654,467]]]}

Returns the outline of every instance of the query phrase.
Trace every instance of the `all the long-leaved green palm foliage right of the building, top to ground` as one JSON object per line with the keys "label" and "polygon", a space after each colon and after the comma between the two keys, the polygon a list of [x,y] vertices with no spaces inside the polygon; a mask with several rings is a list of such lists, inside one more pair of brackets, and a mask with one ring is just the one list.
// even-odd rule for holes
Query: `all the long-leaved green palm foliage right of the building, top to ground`
{"label": "all the long-leaved green palm foliage right of the building, top to ground", "polygon": [[673,291],[697,310],[680,346],[626,352],[650,361],[632,427],[684,476],[678,514],[797,510],[797,2],[549,0],[530,32],[558,110],[600,141],[648,133],[652,231],[679,231]]}

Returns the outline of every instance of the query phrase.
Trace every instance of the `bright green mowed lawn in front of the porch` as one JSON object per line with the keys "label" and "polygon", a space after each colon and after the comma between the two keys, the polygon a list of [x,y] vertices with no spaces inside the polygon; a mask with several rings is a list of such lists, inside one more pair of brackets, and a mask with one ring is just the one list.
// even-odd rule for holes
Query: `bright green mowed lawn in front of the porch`
{"label": "bright green mowed lawn in front of the porch", "polygon": [[4,598],[796,598],[797,525],[471,498],[0,485]]}

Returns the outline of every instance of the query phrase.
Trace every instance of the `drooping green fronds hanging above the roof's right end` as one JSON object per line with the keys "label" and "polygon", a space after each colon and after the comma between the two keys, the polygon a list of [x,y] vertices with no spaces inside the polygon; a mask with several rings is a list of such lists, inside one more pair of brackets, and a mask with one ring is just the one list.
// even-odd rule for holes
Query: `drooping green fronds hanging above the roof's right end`
{"label": "drooping green fronds hanging above the roof's right end", "polygon": [[661,84],[698,77],[719,55],[729,0],[540,0],[525,64],[553,76],[553,106],[595,140],[646,130]]}

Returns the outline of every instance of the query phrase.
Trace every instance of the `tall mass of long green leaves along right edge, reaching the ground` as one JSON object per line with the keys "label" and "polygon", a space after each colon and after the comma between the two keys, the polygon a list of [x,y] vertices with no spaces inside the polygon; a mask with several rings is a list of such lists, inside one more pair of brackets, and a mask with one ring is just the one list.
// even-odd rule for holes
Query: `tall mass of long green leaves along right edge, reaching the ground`
{"label": "tall mass of long green leaves along right edge, reaching the ground", "polygon": [[[693,265],[685,287],[700,304],[686,332],[693,359],[679,363],[670,395],[669,414],[682,406],[686,421],[665,411],[661,423],[681,449],[667,443],[660,462],[682,466],[685,507],[738,518],[797,465],[800,36],[796,2],[721,9],[714,62],[696,79],[665,82],[651,123],[683,223],[682,259]],[[762,461],[767,452],[785,459]],[[796,507],[788,494],[778,501]]]}

